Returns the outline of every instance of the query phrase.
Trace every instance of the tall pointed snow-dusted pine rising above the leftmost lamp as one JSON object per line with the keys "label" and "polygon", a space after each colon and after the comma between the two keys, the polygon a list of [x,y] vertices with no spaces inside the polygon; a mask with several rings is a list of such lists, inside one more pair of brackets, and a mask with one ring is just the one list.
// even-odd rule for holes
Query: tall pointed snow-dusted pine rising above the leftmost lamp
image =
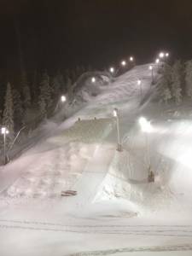
{"label": "tall pointed snow-dusted pine rising above the leftmost lamp", "polygon": [[14,104],[11,85],[7,84],[4,99],[3,125],[9,130],[9,138],[14,137]]}

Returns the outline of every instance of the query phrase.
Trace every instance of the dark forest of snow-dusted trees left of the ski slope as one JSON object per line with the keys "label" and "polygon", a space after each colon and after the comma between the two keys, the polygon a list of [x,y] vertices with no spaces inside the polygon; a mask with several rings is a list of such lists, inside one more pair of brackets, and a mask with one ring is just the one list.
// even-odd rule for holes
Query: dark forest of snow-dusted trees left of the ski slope
{"label": "dark forest of snow-dusted trees left of the ski slope", "polygon": [[[90,69],[90,67],[89,67]],[[9,140],[25,126],[24,133],[35,129],[40,122],[49,118],[62,94],[71,90],[72,84],[88,69],[77,67],[75,70],[57,71],[49,75],[44,72],[22,72],[17,76],[16,83],[4,81],[6,88],[0,107],[1,125],[9,130]],[[12,79],[13,80],[13,79]],[[2,140],[2,138],[0,139]]]}

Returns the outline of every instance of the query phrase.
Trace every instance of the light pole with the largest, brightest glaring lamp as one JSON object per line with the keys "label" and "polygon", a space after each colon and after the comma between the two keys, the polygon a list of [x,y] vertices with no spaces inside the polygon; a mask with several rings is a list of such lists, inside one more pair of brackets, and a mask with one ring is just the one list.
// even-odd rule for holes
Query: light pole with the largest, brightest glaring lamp
{"label": "light pole with the largest, brightest glaring lamp", "polygon": [[150,157],[149,157],[149,145],[148,145],[148,133],[153,131],[153,129],[150,122],[144,117],[141,117],[139,119],[139,125],[141,125],[141,129],[145,133],[145,139],[146,139],[146,149],[147,149],[146,151],[147,151],[147,159],[148,159],[148,182],[154,183],[154,172],[151,169],[151,163],[150,163]]}

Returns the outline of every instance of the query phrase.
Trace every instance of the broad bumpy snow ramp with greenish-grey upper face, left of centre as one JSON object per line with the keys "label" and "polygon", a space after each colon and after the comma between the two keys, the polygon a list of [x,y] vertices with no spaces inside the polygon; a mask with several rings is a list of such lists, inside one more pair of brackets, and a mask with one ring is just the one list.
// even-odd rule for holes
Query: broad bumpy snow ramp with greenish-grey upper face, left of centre
{"label": "broad bumpy snow ramp with greenish-grey upper face, left of centre", "polygon": [[[10,198],[60,198],[61,190],[83,191],[89,180],[96,179],[89,173],[96,175],[94,167],[98,167],[101,160],[97,156],[106,150],[99,146],[113,125],[113,118],[79,120],[59,135],[49,137],[6,167],[1,188],[3,195]],[[96,148],[102,148],[102,151]],[[104,157],[103,151],[101,158]],[[88,191],[86,189],[87,195]]]}

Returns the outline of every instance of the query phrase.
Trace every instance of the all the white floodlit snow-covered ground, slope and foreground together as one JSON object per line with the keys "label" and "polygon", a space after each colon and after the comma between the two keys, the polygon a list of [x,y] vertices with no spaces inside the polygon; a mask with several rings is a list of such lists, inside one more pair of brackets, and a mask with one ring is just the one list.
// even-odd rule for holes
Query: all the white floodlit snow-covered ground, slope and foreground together
{"label": "all the white floodlit snow-covered ground, slope and foreground together", "polygon": [[[192,255],[190,102],[154,102],[148,65],[97,86],[97,96],[83,87],[83,108],[49,122],[35,146],[1,168],[0,255]],[[67,189],[77,195],[61,196]]]}

